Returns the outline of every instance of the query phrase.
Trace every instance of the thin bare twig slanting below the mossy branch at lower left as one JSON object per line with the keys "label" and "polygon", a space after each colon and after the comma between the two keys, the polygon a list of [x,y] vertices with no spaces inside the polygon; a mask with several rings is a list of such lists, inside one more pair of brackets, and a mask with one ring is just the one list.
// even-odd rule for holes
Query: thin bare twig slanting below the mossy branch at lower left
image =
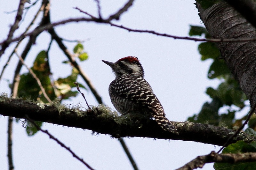
{"label": "thin bare twig slanting below the mossy branch at lower left", "polygon": [[94,169],[93,169],[90,165],[88,165],[82,158],[79,158],[79,157],[76,155],[76,153],[73,152],[69,147],[67,147],[64,143],[60,142],[59,139],[57,139],[57,138],[54,137],[52,134],[50,134],[50,133],[48,132],[48,130],[43,130],[43,129],[41,129],[32,119],[30,119],[30,118],[28,117],[28,115],[25,115],[25,116],[26,116],[26,119],[28,119],[29,122],[31,122],[31,123],[36,127],[37,130],[40,130],[41,132],[47,134],[51,139],[55,140],[58,144],[60,144],[60,146],[62,146],[62,147],[65,148],[66,150],[68,150],[68,152],[70,152],[70,153],[73,155],[73,157],[75,157],[76,159],[78,159],[80,162],[82,162],[82,163],[83,163],[85,166],[87,166],[89,169],[94,170]]}

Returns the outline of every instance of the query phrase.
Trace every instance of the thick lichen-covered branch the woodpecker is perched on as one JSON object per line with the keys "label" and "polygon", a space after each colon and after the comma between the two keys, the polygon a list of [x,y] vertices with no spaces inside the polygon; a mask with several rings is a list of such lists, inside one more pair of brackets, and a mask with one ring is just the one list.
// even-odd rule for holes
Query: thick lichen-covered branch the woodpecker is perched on
{"label": "thick lichen-covered branch the woodpecker is perched on", "polygon": [[[163,131],[155,120],[131,121],[129,118],[113,114],[110,109],[102,105],[94,107],[92,110],[81,111],[75,108],[64,107],[58,102],[47,106],[1,96],[0,108],[0,114],[4,116],[25,118],[27,114],[35,121],[89,129],[116,138],[150,137],[223,145],[235,132],[231,129],[209,124],[175,122],[180,135],[174,135]],[[247,133],[239,133],[230,143],[235,143],[238,140],[244,140],[249,143],[255,141],[256,137],[250,136]]]}

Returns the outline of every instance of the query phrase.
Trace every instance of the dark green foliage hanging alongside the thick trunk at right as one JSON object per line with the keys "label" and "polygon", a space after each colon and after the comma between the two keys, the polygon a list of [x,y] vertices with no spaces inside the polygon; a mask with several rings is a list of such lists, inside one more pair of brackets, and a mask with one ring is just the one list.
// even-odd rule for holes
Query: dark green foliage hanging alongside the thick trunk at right
{"label": "dark green foliage hanging alongside the thick trunk at right", "polygon": [[[202,36],[203,34],[207,36],[207,38],[210,38],[209,33],[204,27],[191,26],[189,35]],[[201,111],[198,114],[189,117],[188,121],[197,123],[207,122],[215,126],[226,125],[230,129],[235,126],[241,126],[245,117],[240,120],[236,120],[235,115],[237,111],[240,111],[245,107],[244,102],[247,98],[244,92],[242,92],[239,84],[234,79],[234,76],[231,74],[224,60],[219,59],[221,57],[220,51],[214,43],[200,43],[198,51],[201,54],[202,61],[207,59],[213,60],[207,76],[209,79],[218,78],[220,80],[220,84],[216,89],[213,87],[208,87],[206,89],[206,94],[209,95],[212,101],[205,102]],[[227,109],[226,111],[222,111],[223,113],[220,113],[220,108],[222,107]],[[256,119],[254,122],[255,125]],[[250,127],[254,128],[254,126]]]}

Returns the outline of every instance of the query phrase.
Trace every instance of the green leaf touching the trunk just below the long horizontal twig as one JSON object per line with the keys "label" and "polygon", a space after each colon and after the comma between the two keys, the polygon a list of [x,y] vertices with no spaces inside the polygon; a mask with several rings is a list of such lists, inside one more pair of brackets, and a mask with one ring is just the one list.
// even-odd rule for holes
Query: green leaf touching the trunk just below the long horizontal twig
{"label": "green leaf touching the trunk just below the long horizontal twig", "polygon": [[218,59],[220,57],[219,48],[212,42],[202,42],[198,46],[198,51],[201,54],[201,60],[208,58]]}

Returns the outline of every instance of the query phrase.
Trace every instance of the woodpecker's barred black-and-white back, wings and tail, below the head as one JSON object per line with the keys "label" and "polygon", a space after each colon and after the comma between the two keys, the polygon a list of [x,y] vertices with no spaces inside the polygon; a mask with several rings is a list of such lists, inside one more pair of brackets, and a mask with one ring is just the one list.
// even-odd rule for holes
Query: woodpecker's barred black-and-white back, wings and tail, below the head
{"label": "woodpecker's barred black-and-white back, wings and tail, below the head", "polygon": [[[116,106],[115,102],[113,103],[114,106],[117,110],[123,112],[123,114],[125,113],[124,110],[132,108],[131,110],[135,111],[133,108],[140,109],[137,111],[147,112],[153,116],[162,129],[179,134],[175,125],[165,117],[164,108],[154,94],[151,86],[141,76],[131,74],[116,79],[110,84],[109,91],[112,94],[111,100],[118,101],[118,105]],[[132,104],[139,107],[129,106]]]}

